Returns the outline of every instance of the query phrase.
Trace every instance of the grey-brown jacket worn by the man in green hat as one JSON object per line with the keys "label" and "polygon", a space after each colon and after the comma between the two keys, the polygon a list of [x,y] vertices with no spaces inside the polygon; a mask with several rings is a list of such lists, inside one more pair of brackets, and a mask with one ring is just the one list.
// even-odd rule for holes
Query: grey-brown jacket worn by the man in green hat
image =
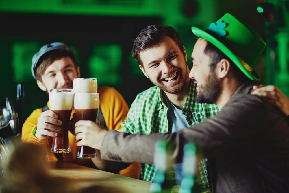
{"label": "grey-brown jacket worn by the man in green hat", "polygon": [[[188,141],[208,158],[213,192],[289,192],[289,128],[286,116],[250,95],[251,84],[241,85],[212,118],[177,133],[152,135],[108,131],[101,145],[106,160],[153,163],[158,139],[173,143],[176,162],[182,161]],[[115,168],[125,167],[117,163]]]}

